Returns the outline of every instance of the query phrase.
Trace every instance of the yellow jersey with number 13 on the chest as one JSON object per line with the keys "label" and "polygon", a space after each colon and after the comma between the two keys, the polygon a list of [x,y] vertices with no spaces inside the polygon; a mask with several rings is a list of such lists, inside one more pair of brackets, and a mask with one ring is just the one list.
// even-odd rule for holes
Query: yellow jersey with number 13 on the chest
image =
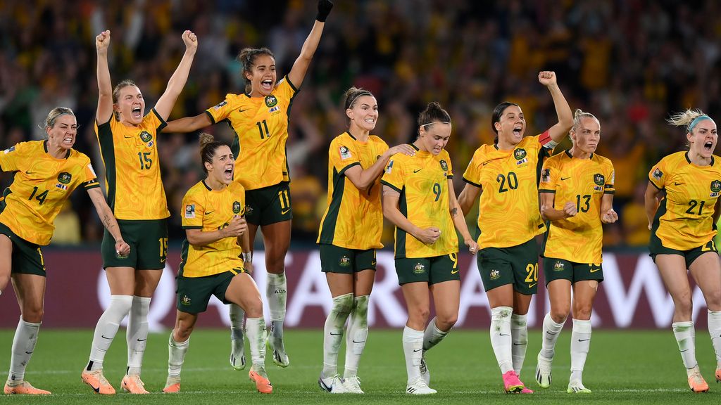
{"label": "yellow jersey with number 13 on the chest", "polygon": [[543,257],[601,263],[601,199],[615,192],[614,179],[611,160],[596,153],[591,153],[589,159],[575,159],[564,151],[547,159],[541,170],[539,192],[555,195],[554,209],[562,211],[570,202],[575,203],[578,213],[550,221]]}

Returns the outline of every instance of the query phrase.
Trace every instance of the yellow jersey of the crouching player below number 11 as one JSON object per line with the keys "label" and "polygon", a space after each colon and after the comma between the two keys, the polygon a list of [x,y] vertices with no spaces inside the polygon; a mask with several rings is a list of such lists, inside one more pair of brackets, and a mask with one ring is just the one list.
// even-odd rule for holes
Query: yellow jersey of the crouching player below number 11
{"label": "yellow jersey of the crouching player below number 11", "polygon": [[[182,199],[182,227],[212,232],[228,226],[235,217],[245,215],[245,190],[239,182],[232,182],[223,190],[211,190],[205,181],[187,190]],[[204,277],[229,270],[241,272],[242,249],[236,236],[229,236],[205,246],[182,242],[180,274],[183,277]]]}

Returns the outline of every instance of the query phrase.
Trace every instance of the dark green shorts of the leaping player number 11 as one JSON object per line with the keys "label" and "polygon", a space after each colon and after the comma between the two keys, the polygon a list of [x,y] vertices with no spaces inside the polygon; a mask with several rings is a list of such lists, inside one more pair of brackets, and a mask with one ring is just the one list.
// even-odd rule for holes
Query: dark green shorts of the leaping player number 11
{"label": "dark green shorts of the leaping player number 11", "polygon": [[291,219],[290,183],[280,182],[257,190],[246,190],[245,220],[248,223],[262,226]]}

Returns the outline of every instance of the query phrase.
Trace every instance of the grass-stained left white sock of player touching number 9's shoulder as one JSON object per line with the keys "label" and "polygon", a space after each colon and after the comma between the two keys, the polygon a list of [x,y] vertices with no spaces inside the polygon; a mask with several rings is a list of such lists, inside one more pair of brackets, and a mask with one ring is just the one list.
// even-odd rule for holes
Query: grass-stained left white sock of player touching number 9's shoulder
{"label": "grass-stained left white sock of player touching number 9's shoulder", "polygon": [[343,342],[343,328],[352,309],[353,293],[333,298],[333,306],[323,326],[323,378],[331,378],[338,373],[338,352]]}

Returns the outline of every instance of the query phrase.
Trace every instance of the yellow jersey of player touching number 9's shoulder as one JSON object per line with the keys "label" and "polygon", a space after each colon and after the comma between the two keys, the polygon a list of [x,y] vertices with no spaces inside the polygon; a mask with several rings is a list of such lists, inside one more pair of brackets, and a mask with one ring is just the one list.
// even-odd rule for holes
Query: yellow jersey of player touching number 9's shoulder
{"label": "yellow jersey of player touching number 9's shoulder", "polygon": [[350,133],[342,133],[331,141],[328,150],[328,208],[320,223],[319,244],[332,244],[348,249],[381,249],[383,208],[381,183],[376,179],[366,191],[358,190],[345,177],[353,166],[368,169],[388,150],[376,135],[358,141]]}

